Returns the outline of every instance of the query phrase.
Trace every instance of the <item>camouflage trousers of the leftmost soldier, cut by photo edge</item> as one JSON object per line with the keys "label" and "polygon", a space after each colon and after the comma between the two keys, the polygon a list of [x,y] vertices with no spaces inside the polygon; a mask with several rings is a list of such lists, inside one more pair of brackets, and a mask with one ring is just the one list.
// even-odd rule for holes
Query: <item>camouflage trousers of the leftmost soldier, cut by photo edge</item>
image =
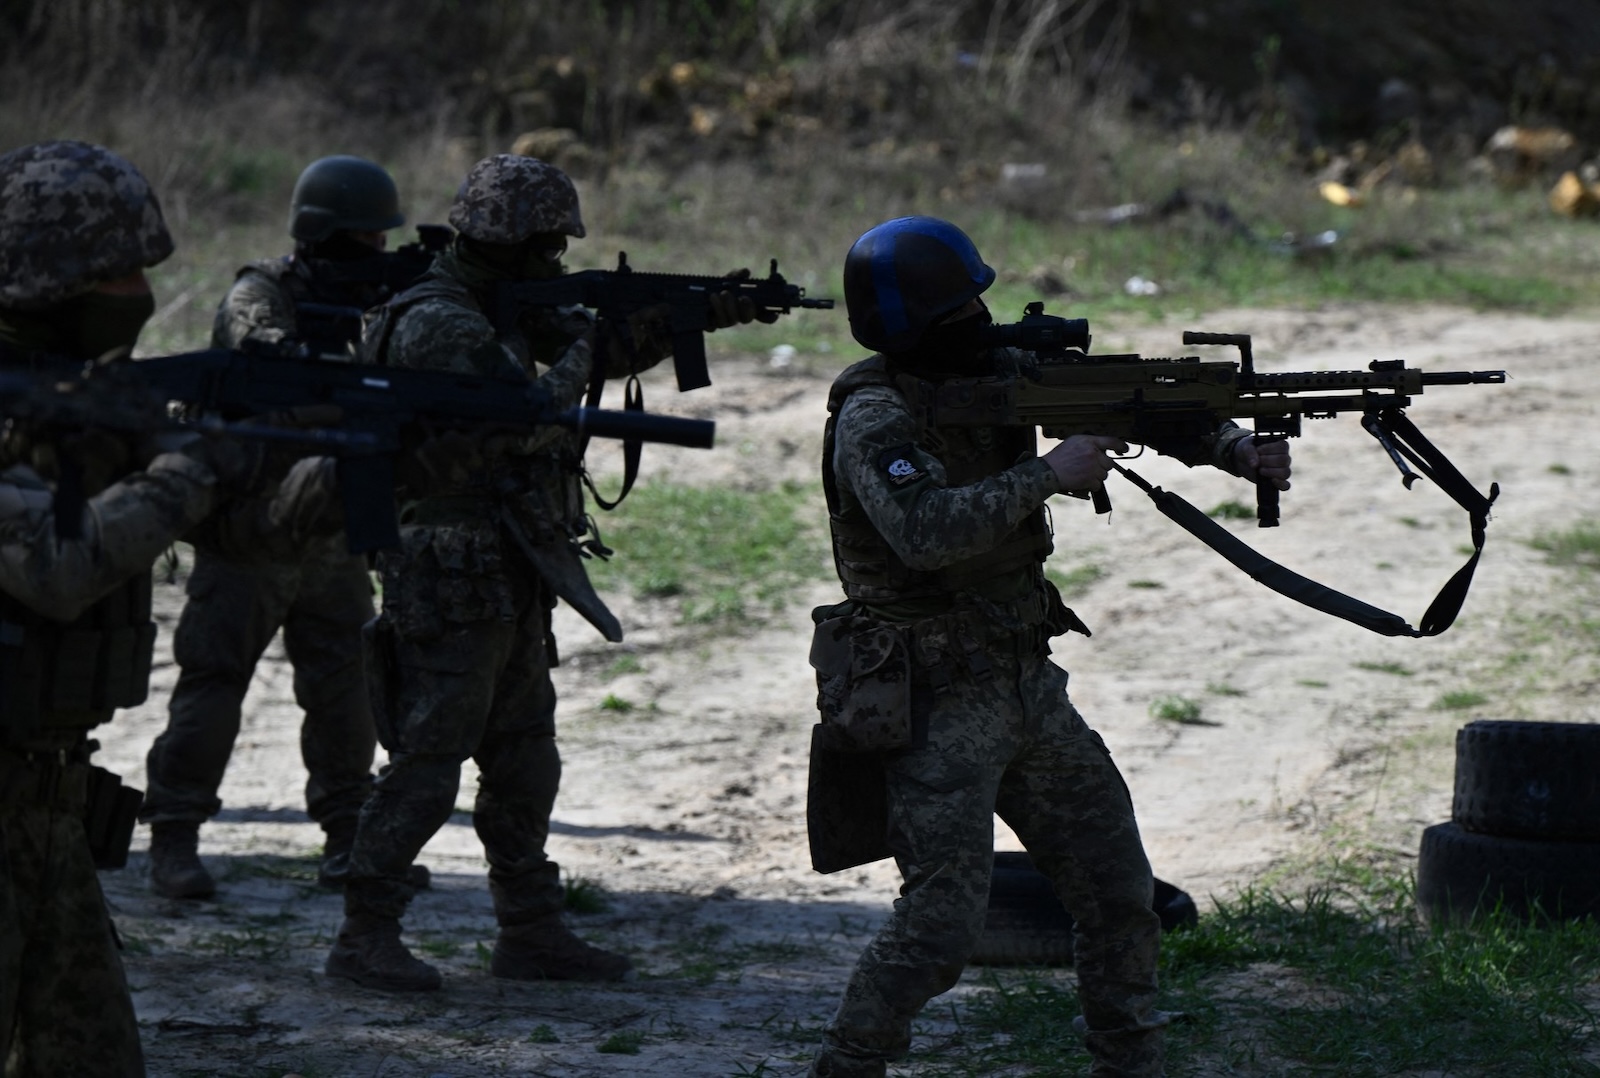
{"label": "camouflage trousers of the leftmost soldier, cut by photo edge", "polygon": [[0,805],[0,1060],[13,1078],[144,1075],[77,811]]}

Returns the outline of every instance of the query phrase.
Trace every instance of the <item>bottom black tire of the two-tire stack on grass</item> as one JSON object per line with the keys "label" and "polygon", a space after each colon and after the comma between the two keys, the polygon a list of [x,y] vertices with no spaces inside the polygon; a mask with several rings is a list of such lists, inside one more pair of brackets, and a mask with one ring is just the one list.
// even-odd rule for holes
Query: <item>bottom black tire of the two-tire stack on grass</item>
{"label": "bottom black tire of the two-tire stack on grass", "polygon": [[1504,905],[1526,918],[1600,915],[1600,843],[1480,835],[1459,824],[1422,832],[1416,902],[1430,921],[1470,920]]}

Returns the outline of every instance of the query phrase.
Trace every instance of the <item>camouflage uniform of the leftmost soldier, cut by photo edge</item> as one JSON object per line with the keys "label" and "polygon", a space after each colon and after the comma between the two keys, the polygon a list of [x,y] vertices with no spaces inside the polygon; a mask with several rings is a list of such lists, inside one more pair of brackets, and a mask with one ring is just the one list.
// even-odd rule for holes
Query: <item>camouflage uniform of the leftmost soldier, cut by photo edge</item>
{"label": "camouflage uniform of the leftmost soldier, cut by photo edge", "polygon": [[144,1073],[83,832],[88,731],[144,699],[150,563],[214,486],[200,462],[157,457],[62,541],[50,486],[24,465],[0,475],[0,1057],[14,1051],[16,1073]]}

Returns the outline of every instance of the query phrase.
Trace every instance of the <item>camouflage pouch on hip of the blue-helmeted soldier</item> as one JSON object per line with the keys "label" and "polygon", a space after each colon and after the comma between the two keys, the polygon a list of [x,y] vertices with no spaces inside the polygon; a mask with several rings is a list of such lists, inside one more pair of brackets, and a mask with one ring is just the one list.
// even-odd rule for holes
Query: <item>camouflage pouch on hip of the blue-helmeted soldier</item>
{"label": "camouflage pouch on hip of the blue-helmeted soldier", "polygon": [[811,667],[824,728],[818,737],[830,750],[883,752],[912,744],[910,648],[902,629],[858,616],[819,621]]}

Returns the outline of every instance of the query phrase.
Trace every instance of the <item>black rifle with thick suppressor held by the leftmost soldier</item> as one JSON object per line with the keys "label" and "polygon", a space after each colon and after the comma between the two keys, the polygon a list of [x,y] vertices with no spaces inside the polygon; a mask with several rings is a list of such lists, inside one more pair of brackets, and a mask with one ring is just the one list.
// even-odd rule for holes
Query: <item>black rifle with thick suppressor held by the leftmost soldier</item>
{"label": "black rifle with thick suppressor held by the leftmost soldier", "polygon": [[[198,419],[168,417],[168,403]],[[334,405],[338,430],[298,430],[256,422],[272,413]],[[352,553],[398,545],[395,456],[440,429],[533,432],[558,425],[579,435],[710,448],[715,422],[643,411],[557,408],[530,381],[477,377],[306,360],[272,345],[208,349],[85,368],[35,361],[32,373],[0,379],[8,419],[30,425],[158,430],[194,425],[232,437],[304,443],[307,454],[338,459],[339,493]],[[58,491],[58,497],[59,497]],[[69,491],[70,494],[70,491]],[[82,493],[78,493],[82,497]],[[58,520],[78,512],[58,505]]]}

